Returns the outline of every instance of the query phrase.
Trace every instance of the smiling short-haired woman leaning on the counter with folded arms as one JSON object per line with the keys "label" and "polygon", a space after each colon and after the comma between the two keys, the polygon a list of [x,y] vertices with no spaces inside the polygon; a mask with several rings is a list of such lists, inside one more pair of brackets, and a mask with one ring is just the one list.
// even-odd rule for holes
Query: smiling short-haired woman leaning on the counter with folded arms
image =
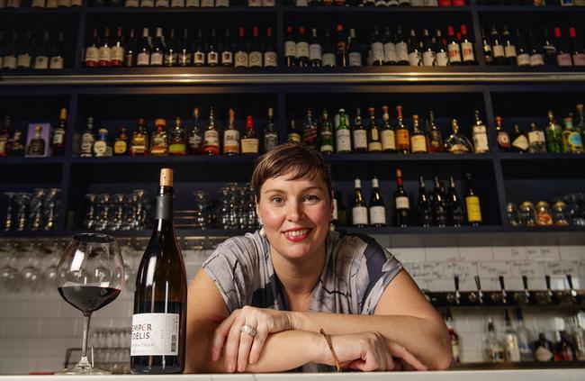
{"label": "smiling short-haired woman leaning on the counter with folded arms", "polygon": [[220,244],[189,286],[186,373],[449,366],[446,326],[401,263],[331,229],[320,153],[278,146],[252,186],[262,228]]}

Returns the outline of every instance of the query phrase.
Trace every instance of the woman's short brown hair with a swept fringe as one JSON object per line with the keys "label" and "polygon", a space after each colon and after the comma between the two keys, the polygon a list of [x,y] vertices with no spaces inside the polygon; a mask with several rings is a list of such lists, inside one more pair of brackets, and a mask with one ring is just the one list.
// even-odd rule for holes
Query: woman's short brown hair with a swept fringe
{"label": "woman's short brown hair with a swept fringe", "polygon": [[269,178],[290,173],[291,180],[303,177],[312,179],[320,177],[327,186],[328,197],[331,197],[333,182],[329,164],[320,152],[297,143],[286,143],[276,146],[257,159],[252,174],[252,187],[256,199],[260,200],[260,188]]}

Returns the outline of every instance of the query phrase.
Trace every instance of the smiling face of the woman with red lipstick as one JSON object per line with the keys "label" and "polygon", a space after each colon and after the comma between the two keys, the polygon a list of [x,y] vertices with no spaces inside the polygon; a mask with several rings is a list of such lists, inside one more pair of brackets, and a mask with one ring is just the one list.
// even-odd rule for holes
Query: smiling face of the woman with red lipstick
{"label": "smiling face of the woman with red lipstick", "polygon": [[333,203],[322,179],[290,177],[266,180],[260,188],[257,213],[277,254],[306,259],[325,249]]}

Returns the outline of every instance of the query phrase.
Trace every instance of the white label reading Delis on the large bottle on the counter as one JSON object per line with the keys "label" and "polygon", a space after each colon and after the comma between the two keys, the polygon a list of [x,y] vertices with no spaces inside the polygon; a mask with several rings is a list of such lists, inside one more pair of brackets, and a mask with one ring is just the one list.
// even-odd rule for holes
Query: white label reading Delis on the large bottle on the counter
{"label": "white label reading Delis on the large bottle on the counter", "polygon": [[178,356],[178,313],[135,313],[130,356]]}

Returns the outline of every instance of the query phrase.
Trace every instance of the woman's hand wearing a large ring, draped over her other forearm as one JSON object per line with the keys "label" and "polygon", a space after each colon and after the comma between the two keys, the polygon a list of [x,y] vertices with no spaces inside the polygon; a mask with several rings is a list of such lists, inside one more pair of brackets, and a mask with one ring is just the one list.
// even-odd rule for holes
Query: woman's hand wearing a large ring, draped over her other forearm
{"label": "woman's hand wearing a large ring, draped over her other forearm", "polygon": [[[256,329],[256,335],[240,331],[244,325]],[[293,330],[291,313],[245,305],[231,313],[213,333],[211,358],[220,358],[225,342],[228,371],[244,372],[248,363],[257,362],[268,334],[288,330]]]}

